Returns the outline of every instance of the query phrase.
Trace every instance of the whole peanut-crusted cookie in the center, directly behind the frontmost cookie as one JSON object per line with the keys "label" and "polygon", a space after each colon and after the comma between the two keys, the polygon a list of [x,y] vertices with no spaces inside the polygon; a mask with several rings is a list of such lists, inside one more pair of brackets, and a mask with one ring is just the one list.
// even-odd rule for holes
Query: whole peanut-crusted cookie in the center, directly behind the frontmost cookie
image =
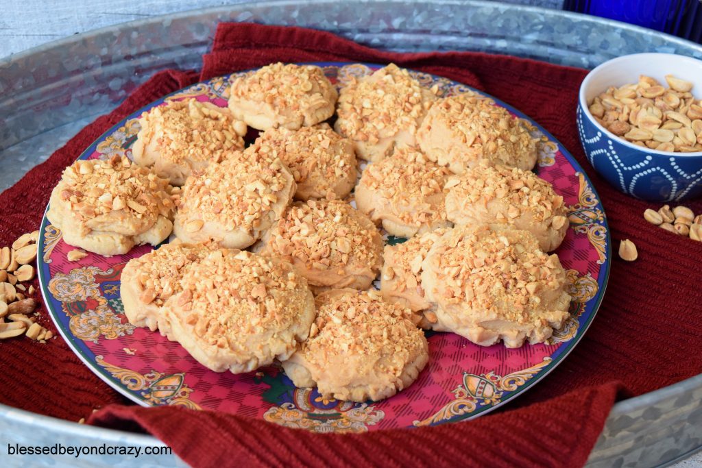
{"label": "whole peanut-crusted cookie in the center, directly behind the frontmost cookie", "polygon": [[291,262],[314,293],[367,289],[383,262],[373,222],[345,201],[294,203],[270,229],[263,253]]}

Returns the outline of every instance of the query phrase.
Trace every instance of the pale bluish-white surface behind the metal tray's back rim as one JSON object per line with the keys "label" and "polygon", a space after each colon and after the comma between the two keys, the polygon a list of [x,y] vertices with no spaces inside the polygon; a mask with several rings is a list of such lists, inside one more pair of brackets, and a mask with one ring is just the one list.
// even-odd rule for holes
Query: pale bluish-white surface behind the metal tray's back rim
{"label": "pale bluish-white surface behind the metal tray's back rim", "polygon": [[[72,34],[154,15],[246,0],[0,0],[0,58]],[[507,0],[561,8],[563,0]]]}

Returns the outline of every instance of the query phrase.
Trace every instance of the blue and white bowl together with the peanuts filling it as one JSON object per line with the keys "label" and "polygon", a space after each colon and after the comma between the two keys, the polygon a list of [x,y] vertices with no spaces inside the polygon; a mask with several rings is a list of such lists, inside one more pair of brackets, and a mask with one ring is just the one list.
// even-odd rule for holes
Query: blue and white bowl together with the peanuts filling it
{"label": "blue and white bowl together with the peanuts filling it", "polygon": [[701,60],[640,53],[602,63],[585,76],[578,99],[578,135],[588,161],[611,185],[640,199],[701,196],[700,100]]}

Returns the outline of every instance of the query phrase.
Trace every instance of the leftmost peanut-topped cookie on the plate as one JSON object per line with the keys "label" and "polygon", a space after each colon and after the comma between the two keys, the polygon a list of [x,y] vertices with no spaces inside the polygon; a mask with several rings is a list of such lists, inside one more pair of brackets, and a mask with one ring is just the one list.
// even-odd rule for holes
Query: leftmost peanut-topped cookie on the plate
{"label": "leftmost peanut-topped cookie on the plate", "polygon": [[46,216],[69,246],[121,255],[171,234],[172,191],[168,180],[126,157],[80,160],[63,171]]}

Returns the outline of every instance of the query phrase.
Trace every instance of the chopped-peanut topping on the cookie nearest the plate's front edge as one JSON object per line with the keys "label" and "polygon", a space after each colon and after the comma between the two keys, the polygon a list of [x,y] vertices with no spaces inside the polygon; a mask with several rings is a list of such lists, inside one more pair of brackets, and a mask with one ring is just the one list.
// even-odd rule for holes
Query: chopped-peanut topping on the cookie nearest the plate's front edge
{"label": "chopped-peanut topping on the cookie nearest the plate's front edge", "polygon": [[366,356],[378,371],[399,376],[406,354],[424,348],[423,332],[409,309],[385,302],[376,290],[330,290],[318,295],[315,305],[317,319],[300,349],[314,366],[324,368],[329,354]]}

